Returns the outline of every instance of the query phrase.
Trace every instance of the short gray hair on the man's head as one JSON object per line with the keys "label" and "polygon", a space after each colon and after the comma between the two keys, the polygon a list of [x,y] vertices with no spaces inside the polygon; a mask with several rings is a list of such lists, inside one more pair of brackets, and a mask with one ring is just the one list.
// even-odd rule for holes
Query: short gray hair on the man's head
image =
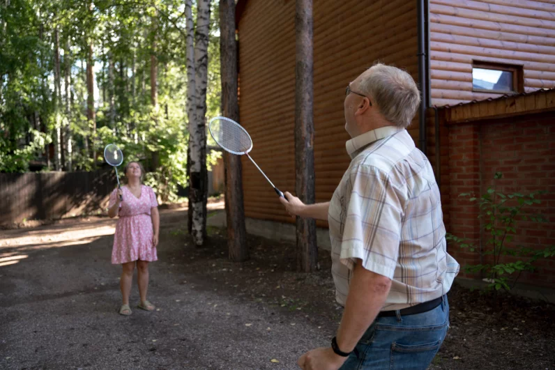
{"label": "short gray hair on the man's head", "polygon": [[387,121],[402,128],[411,124],[420,105],[420,91],[404,70],[376,63],[359,84],[360,92],[372,99]]}

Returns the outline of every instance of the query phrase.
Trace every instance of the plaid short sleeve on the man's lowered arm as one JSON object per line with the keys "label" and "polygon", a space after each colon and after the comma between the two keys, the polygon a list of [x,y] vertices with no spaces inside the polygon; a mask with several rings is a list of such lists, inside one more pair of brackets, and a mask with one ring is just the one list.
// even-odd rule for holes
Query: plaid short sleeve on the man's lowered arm
{"label": "plaid short sleeve on the man's lowered arm", "polygon": [[388,174],[370,166],[351,170],[346,186],[341,262],[352,270],[355,259],[360,259],[365,269],[393,279],[404,203],[397,188]]}

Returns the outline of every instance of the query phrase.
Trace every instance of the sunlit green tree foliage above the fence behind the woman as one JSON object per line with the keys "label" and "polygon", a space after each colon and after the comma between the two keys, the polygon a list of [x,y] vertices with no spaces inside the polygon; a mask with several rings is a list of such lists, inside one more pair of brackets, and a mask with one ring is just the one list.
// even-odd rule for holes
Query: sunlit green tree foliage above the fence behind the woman
{"label": "sunlit green tree foliage above the fence behind the woman", "polygon": [[[196,12],[195,7],[193,11]],[[195,16],[195,14],[193,15]],[[218,1],[208,44],[207,118],[220,114]],[[154,28],[155,24],[155,28]],[[61,100],[54,94],[59,34]],[[155,47],[153,46],[155,41]],[[86,66],[93,46],[96,123],[87,119]],[[151,100],[151,56],[158,107]],[[66,76],[66,65],[70,73]],[[105,145],[139,160],[162,201],[186,187],[188,119],[183,1],[10,0],[0,3],[0,172],[24,172],[52,151],[56,128],[70,135],[72,170],[102,165]],[[66,95],[65,78],[70,82]],[[68,107],[68,109],[66,109]],[[215,143],[208,137],[208,146]],[[93,158],[93,153],[96,157]],[[153,157],[158,158],[154,167]],[[210,168],[220,156],[208,151]],[[124,163],[125,164],[125,163]],[[66,163],[66,167],[68,163]]]}

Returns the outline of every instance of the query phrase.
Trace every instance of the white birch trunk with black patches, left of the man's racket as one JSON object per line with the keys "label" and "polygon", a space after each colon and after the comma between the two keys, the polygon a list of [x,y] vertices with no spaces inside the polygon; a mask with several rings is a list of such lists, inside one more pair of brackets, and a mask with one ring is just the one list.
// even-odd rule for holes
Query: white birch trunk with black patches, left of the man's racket
{"label": "white birch trunk with black patches, left of the man's racket", "polygon": [[206,201],[208,200],[208,171],[206,170],[206,82],[208,77],[208,33],[210,31],[210,0],[197,0],[197,29],[195,31],[195,124],[189,133],[190,145],[190,203],[192,207],[192,239],[204,244],[206,236]]}

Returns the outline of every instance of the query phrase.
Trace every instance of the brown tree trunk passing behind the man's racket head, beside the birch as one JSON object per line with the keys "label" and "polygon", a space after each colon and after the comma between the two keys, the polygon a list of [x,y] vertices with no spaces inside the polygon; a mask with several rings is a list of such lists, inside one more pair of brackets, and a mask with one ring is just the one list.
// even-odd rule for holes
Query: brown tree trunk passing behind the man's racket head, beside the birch
{"label": "brown tree trunk passing behind the man's racket head, beside the birch", "polygon": [[[220,0],[220,66],[222,80],[222,114],[239,121],[237,96],[237,42],[235,40],[235,0]],[[231,261],[249,259],[246,243],[245,209],[241,157],[224,153],[225,215],[227,249]]]}

